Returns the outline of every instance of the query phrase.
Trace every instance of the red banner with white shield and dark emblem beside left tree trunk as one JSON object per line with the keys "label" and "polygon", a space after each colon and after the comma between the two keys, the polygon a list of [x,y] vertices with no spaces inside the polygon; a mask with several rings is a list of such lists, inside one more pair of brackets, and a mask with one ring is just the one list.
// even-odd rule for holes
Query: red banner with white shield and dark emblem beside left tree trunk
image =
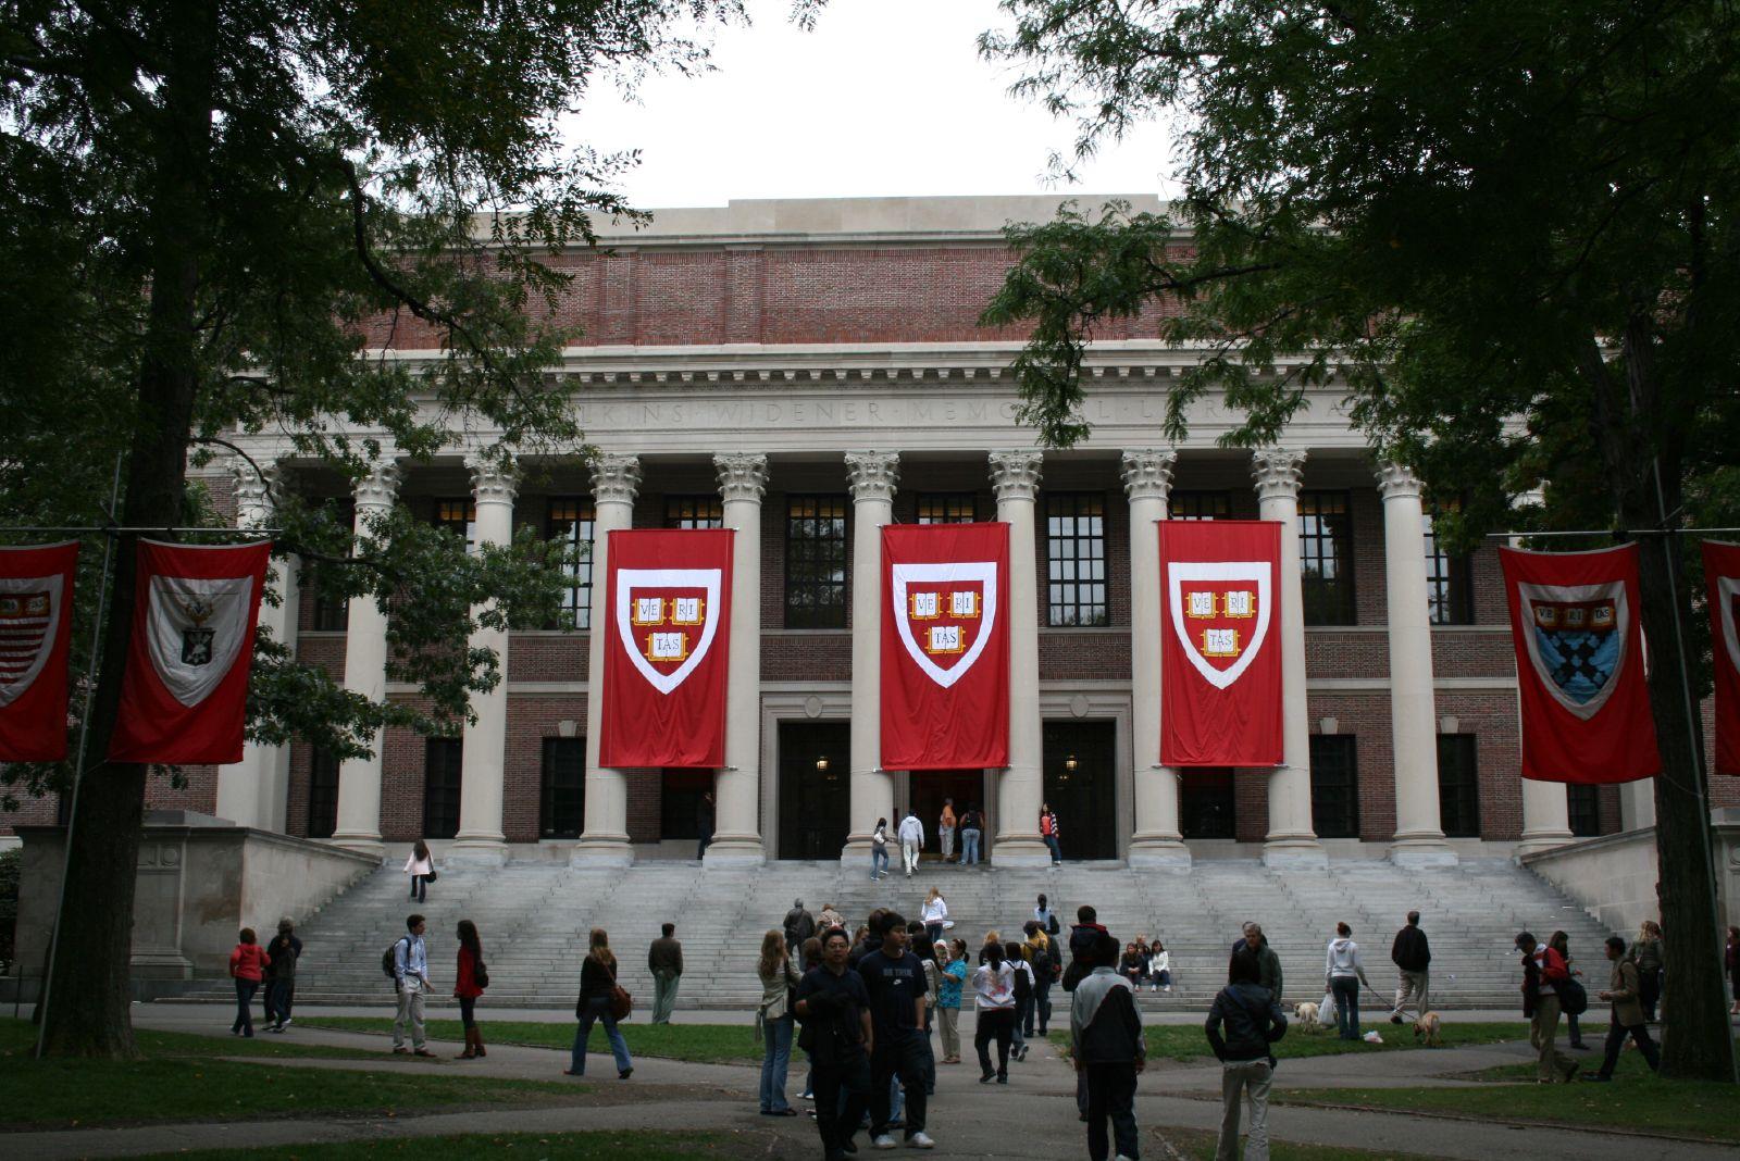
{"label": "red banner with white shield and dark emblem beside left tree trunk", "polygon": [[110,761],[242,761],[270,554],[270,541],[233,547],[139,541]]}

